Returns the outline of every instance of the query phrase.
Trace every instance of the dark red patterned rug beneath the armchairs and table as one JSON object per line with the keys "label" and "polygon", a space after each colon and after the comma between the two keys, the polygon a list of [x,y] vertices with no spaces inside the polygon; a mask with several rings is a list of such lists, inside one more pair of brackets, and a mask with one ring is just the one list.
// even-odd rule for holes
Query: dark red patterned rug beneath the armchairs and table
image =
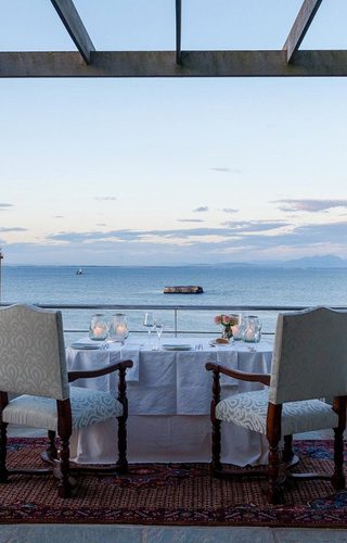
{"label": "dark red patterned rug beneath the armchairs and table", "polygon": [[[9,444],[9,467],[42,467],[44,439]],[[331,472],[332,441],[299,441],[295,450],[297,470]],[[76,496],[64,501],[51,476],[11,476],[0,485],[0,522],[347,527],[347,492],[334,493],[329,481],[292,481],[279,506],[266,503],[262,485],[211,479],[206,464],[147,464],[127,476],[80,475]]]}

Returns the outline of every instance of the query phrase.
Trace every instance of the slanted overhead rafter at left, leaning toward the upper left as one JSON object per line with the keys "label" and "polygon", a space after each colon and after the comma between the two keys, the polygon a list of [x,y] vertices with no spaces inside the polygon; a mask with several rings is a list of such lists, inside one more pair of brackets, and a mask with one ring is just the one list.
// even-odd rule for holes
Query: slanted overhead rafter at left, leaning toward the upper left
{"label": "slanted overhead rafter at left, leaning toward the upper left", "polygon": [[95,48],[85,28],[74,2],[72,0],[51,0],[51,2],[85,62],[90,64],[90,53],[95,51]]}

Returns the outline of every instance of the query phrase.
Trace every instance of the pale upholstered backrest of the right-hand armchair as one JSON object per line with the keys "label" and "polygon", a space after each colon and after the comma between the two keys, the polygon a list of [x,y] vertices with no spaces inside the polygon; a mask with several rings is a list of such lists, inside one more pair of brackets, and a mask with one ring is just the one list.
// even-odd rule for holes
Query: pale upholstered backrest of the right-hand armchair
{"label": "pale upholstered backrest of the right-hand armchair", "polygon": [[316,307],[280,314],[269,401],[347,394],[347,312]]}

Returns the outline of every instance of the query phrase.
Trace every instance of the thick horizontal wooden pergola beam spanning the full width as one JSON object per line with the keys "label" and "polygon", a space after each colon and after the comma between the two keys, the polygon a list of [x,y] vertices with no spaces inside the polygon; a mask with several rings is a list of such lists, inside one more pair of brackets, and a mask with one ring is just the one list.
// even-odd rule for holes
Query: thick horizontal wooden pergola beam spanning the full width
{"label": "thick horizontal wooden pergola beam spanning the full width", "polygon": [[347,51],[95,51],[0,52],[1,77],[346,77]]}

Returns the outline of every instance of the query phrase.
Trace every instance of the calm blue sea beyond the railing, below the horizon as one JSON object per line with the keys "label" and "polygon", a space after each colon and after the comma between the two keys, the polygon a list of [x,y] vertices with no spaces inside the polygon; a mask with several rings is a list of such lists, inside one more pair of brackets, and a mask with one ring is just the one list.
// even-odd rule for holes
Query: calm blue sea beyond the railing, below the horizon
{"label": "calm blue sea beyond the railing, below the horizon", "polygon": [[[216,266],[76,266],[2,265],[2,303],[215,305],[228,306],[347,306],[347,269],[286,269]],[[164,294],[166,286],[196,285],[203,294]],[[87,330],[93,310],[64,310],[67,330]],[[99,313],[99,311],[98,311]],[[115,312],[105,312],[108,316]],[[143,310],[127,310],[130,330],[143,330]],[[164,334],[174,330],[174,311],[157,313]],[[217,333],[218,311],[178,312],[178,329]],[[248,312],[249,313],[249,312]],[[254,313],[254,312],[253,312]],[[273,332],[277,312],[258,312],[265,332]],[[218,330],[219,331],[219,330]],[[81,336],[80,331],[75,333]],[[68,334],[68,339],[72,334]]]}

